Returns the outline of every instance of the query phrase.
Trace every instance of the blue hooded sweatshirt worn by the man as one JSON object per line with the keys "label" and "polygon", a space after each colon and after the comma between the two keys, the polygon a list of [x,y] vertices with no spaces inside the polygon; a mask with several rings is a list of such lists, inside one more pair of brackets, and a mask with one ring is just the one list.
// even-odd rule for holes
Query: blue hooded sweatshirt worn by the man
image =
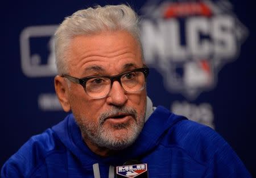
{"label": "blue hooded sweatshirt worn by the man", "polygon": [[72,114],[32,136],[3,165],[1,177],[114,177],[114,166],[137,159],[153,177],[251,177],[216,131],[170,113],[162,106],[145,123],[135,143],[113,156],[94,154],[83,142]]}

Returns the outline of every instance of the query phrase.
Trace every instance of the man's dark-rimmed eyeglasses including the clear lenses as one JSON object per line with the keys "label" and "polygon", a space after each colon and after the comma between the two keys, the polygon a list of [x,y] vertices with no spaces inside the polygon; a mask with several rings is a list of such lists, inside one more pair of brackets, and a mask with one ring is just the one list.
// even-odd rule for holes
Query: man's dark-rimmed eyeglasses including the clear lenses
{"label": "man's dark-rimmed eyeglasses including the clear lenses", "polygon": [[144,65],[143,68],[133,69],[115,76],[76,78],[68,74],[62,74],[61,77],[68,78],[68,80],[82,85],[85,93],[92,98],[104,98],[108,96],[114,81],[118,81],[126,93],[136,93],[143,90],[146,86],[148,72],[149,69]]}

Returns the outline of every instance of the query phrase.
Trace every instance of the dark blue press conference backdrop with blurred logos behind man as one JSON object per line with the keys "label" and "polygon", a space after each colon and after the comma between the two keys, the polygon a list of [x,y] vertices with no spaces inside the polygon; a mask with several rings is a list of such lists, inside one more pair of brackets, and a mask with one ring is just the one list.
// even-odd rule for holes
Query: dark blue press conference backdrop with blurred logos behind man
{"label": "dark blue press conference backdrop with blurred logos behind man", "polygon": [[1,162],[66,115],[53,86],[52,35],[91,5],[128,3],[142,16],[148,96],[220,133],[255,176],[255,3],[9,1],[1,18]]}

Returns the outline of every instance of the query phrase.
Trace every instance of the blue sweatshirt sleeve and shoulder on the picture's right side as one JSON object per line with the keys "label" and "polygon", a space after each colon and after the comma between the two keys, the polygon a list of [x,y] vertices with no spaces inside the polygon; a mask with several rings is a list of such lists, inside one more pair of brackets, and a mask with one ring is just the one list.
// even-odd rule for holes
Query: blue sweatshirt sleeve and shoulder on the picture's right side
{"label": "blue sweatshirt sleeve and shoulder on the picture's right side", "polygon": [[236,152],[212,128],[185,120],[172,129],[171,135],[176,145],[205,165],[203,177],[251,177]]}

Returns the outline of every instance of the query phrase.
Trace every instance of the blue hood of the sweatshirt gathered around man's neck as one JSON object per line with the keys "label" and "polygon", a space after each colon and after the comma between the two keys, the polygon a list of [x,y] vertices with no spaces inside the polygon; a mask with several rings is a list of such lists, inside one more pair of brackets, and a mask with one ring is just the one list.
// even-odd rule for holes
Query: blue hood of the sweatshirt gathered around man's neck
{"label": "blue hood of the sweatshirt gathered around man's neck", "polygon": [[182,119],[186,118],[172,114],[162,106],[156,107],[144,124],[142,132],[134,144],[108,157],[102,157],[90,151],[82,140],[81,131],[75,122],[73,114],[69,114],[62,122],[53,126],[52,129],[65,147],[79,159],[84,168],[92,168],[92,165],[95,163],[115,166],[122,165],[130,159],[142,158],[143,155],[151,152],[158,146],[166,130]]}

